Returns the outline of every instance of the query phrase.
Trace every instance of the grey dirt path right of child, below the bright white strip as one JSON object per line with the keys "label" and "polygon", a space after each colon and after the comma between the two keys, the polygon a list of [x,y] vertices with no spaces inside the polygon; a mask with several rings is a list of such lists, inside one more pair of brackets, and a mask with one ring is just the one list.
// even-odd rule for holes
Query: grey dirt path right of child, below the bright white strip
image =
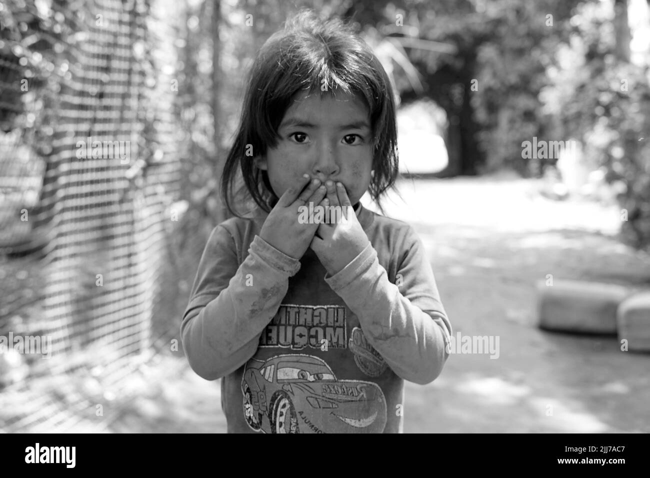
{"label": "grey dirt path right of child, below the bright white strip", "polygon": [[499,356],[456,353],[430,386],[408,384],[407,430],[650,431],[650,356],[621,352],[616,337],[551,334],[535,325],[535,284],[546,274],[557,284],[603,280],[608,273],[622,282],[629,272],[634,282],[643,263],[650,271],[647,258],[617,254],[616,243],[603,237],[569,233],[493,235],[480,242],[454,234],[447,246],[434,263],[454,334],[499,336]]}

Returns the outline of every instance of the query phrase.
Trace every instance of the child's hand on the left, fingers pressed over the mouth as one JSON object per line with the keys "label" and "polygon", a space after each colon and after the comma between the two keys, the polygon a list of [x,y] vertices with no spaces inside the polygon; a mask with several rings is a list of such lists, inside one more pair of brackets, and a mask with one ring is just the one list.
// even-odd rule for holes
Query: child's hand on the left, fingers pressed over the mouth
{"label": "child's hand on the left, fingers pressed over the mouth", "polygon": [[308,206],[310,202],[313,202],[314,206],[325,206],[324,203],[321,204],[327,194],[325,185],[321,185],[318,179],[309,181],[308,185],[307,181],[309,176],[305,174],[301,183],[282,194],[276,206],[268,213],[259,232],[259,237],[268,244],[294,259],[302,258],[320,225],[300,224],[298,207]]}

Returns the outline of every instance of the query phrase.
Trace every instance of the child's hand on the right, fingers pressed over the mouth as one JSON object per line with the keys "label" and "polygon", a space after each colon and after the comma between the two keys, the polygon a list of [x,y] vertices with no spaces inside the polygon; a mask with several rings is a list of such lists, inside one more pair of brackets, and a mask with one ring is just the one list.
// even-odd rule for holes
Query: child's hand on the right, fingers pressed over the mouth
{"label": "child's hand on the right, fingers pressed over the mouth", "polygon": [[[352,262],[369,244],[365,231],[354,213],[348,193],[342,183],[328,186],[328,206],[340,206],[343,214],[336,224],[320,224],[311,249],[325,270],[333,276]],[[320,236],[320,237],[318,237]]]}

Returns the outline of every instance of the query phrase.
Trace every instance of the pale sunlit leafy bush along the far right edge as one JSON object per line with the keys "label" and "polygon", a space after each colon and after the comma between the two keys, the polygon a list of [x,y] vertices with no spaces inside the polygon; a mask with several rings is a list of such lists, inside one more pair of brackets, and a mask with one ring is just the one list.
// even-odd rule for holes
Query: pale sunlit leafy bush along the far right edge
{"label": "pale sunlit leafy bush along the far right edge", "polygon": [[[623,2],[625,3],[625,2]],[[617,185],[623,239],[650,246],[650,85],[648,66],[629,62],[621,2],[580,5],[571,44],[552,85],[562,128]],[[616,18],[618,17],[618,18]],[[614,29],[612,29],[614,18]],[[621,18],[625,18],[623,21]],[[623,46],[619,42],[624,42]]]}

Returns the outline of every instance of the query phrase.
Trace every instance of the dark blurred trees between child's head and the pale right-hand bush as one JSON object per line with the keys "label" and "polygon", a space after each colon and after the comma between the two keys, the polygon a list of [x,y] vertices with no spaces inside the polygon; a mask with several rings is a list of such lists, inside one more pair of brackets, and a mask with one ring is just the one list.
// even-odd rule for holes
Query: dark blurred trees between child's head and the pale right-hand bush
{"label": "dark blurred trees between child's head and the pale right-hand bush", "polygon": [[346,16],[377,25],[406,49],[423,88],[398,79],[404,101],[423,95],[445,109],[449,165],[439,176],[502,166],[528,174],[521,142],[543,131],[545,68],[567,38],[565,21],[577,3],[360,1]]}

